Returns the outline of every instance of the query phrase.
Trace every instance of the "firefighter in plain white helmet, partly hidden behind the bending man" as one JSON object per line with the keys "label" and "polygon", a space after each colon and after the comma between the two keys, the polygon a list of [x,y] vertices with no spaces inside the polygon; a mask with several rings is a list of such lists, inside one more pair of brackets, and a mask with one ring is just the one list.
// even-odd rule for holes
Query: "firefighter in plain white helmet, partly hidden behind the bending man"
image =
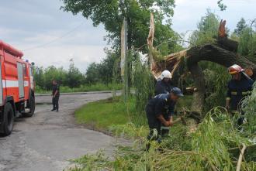
{"label": "firefighter in plain white helmet, partly hidden behind the bending man", "polygon": [[167,94],[171,91],[171,88],[174,87],[171,84],[171,73],[168,70],[164,70],[161,73],[160,80],[157,80],[157,84],[155,86],[155,94]]}

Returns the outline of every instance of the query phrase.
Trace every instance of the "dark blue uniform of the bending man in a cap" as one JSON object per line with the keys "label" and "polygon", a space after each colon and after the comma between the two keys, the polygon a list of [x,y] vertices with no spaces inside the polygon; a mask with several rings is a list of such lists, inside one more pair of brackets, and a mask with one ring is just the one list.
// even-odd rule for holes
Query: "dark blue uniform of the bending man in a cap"
{"label": "dark blue uniform of the bending man in a cap", "polygon": [[[161,121],[157,118],[163,115],[164,118],[171,118],[174,115],[175,101],[171,101],[170,94],[158,94],[148,101],[146,107],[147,121],[150,128],[150,134],[147,139],[157,140],[161,135]],[[157,135],[154,132],[157,131]],[[154,134],[154,135],[153,135]]]}

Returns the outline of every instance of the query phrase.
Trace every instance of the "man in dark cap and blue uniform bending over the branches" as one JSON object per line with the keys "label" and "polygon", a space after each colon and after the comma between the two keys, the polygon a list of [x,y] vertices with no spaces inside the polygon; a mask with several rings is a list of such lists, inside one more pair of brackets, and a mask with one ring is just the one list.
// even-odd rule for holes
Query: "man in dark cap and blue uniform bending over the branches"
{"label": "man in dark cap and blue uniform bending over the branches", "polygon": [[178,87],[173,87],[170,93],[158,94],[148,101],[146,113],[150,133],[147,136],[147,150],[150,148],[151,141],[161,142],[161,127],[173,125],[172,115],[174,115],[175,104],[182,96],[182,91]]}

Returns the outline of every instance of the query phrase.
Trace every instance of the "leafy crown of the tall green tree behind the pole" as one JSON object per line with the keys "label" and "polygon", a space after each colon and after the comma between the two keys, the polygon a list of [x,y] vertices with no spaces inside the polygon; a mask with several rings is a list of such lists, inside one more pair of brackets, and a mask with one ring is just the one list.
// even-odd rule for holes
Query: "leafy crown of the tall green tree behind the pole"
{"label": "leafy crown of the tall green tree behind the pole", "polygon": [[[86,19],[92,19],[93,25],[103,24],[109,43],[119,50],[120,32],[123,19],[128,23],[128,47],[140,47],[147,43],[150,12],[154,12],[157,39],[162,43],[168,39],[178,39],[171,29],[171,16],[174,13],[175,0],[62,0],[62,9],[74,15],[81,13]],[[173,44],[173,43],[172,43]],[[146,48],[141,48],[147,52]]]}

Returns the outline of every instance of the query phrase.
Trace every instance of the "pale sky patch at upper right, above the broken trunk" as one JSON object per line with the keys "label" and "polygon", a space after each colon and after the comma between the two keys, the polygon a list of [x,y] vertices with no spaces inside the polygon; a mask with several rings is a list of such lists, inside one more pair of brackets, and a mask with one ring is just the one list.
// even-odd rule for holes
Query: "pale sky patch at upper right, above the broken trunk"
{"label": "pale sky patch at upper right, above the broken trunk", "polygon": [[177,32],[195,30],[197,23],[206,9],[211,9],[220,19],[227,20],[227,26],[233,30],[241,17],[245,19],[256,18],[256,1],[254,0],[225,0],[227,10],[221,12],[217,0],[176,0],[175,15],[172,19],[173,28]]}

